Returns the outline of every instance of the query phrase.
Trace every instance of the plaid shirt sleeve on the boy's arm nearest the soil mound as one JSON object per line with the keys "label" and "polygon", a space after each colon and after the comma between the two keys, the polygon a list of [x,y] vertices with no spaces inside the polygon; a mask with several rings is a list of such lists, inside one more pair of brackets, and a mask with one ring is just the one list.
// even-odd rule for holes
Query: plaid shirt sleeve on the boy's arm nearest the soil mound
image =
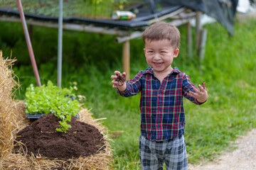
{"label": "plaid shirt sleeve on the boy's arm nearest the soil mound", "polygon": [[124,91],[117,89],[117,94],[124,97],[135,96],[142,89],[142,72],[139,72],[133,79],[126,81],[127,88]]}

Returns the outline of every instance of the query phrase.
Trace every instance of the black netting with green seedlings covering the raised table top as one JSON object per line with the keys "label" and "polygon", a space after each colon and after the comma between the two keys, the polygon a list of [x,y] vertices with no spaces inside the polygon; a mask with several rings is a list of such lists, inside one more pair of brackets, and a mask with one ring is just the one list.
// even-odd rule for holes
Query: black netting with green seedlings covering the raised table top
{"label": "black netting with green seedlings covering the raised table top", "polygon": [[[78,3],[79,2],[79,3]],[[149,26],[149,20],[163,16],[167,13],[186,6],[195,11],[203,11],[219,21],[229,33],[233,34],[233,20],[238,0],[127,0],[119,1],[92,0],[64,0],[63,22],[88,23],[96,26],[119,27],[124,29],[142,28]],[[23,11],[26,18],[41,21],[58,22],[58,1],[23,0]],[[16,1],[4,0],[0,2],[0,15],[19,16]],[[111,13],[122,8],[136,13],[136,18],[131,21],[114,21]]]}

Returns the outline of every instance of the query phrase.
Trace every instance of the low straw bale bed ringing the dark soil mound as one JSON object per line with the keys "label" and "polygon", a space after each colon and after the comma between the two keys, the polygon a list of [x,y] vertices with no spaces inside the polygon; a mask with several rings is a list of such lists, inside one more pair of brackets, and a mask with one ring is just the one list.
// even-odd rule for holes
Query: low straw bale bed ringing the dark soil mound
{"label": "low straw bale bed ringing the dark soil mound", "polygon": [[[24,102],[16,101],[18,120],[14,136],[19,130],[29,125],[24,111]],[[8,154],[4,159],[3,167],[9,167],[8,169],[110,169],[112,166],[112,149],[109,144],[110,138],[107,134],[107,128],[98,123],[98,120],[92,118],[92,113],[87,108],[82,108],[78,115],[79,121],[95,126],[102,133],[106,141],[105,149],[102,152],[90,157],[79,157],[78,159],[48,159],[46,157],[28,155],[26,151],[23,151],[21,154]],[[19,164],[15,162],[19,162]]]}

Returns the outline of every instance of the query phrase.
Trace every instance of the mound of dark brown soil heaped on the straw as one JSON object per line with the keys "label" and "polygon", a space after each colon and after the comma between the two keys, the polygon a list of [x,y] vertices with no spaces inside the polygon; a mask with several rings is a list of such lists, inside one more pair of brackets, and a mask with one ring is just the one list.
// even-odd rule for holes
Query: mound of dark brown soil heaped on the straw
{"label": "mound of dark brown soil heaped on the straw", "polygon": [[[77,158],[97,154],[104,149],[103,135],[92,125],[82,123],[74,117],[68,124],[72,126],[67,133],[57,132],[60,128],[58,118],[53,114],[43,115],[30,126],[24,128],[16,135],[16,140],[21,141],[23,150],[28,154],[33,153],[49,158]],[[16,145],[15,149],[20,149]]]}

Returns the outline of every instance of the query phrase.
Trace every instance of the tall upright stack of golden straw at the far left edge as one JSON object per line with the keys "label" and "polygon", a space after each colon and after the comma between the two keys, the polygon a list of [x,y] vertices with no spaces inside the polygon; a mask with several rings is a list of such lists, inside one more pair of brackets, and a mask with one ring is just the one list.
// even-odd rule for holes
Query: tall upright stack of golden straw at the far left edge
{"label": "tall upright stack of golden straw at the far left edge", "polygon": [[[15,74],[11,70],[15,60],[4,60],[0,50],[0,167],[6,155],[12,151],[14,136],[13,130],[16,126],[16,116],[14,115],[15,103],[14,93],[18,85],[14,80]],[[14,91],[13,91],[14,90]]]}

